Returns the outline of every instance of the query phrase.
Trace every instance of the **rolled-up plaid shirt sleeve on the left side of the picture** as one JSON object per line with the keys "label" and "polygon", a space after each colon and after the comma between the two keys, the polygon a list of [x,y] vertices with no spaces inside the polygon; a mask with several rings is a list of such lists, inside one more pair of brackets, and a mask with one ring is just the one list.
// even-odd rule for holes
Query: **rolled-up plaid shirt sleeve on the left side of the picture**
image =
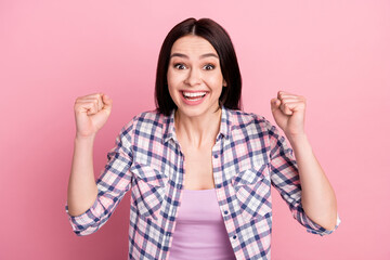
{"label": "rolled-up plaid shirt sleeve on the left side of the picture", "polygon": [[132,164],[130,128],[123,128],[116,139],[115,146],[107,154],[107,162],[96,180],[98,197],[91,208],[80,216],[68,216],[73,231],[77,235],[89,235],[96,232],[107,222],[114,210],[130,190]]}

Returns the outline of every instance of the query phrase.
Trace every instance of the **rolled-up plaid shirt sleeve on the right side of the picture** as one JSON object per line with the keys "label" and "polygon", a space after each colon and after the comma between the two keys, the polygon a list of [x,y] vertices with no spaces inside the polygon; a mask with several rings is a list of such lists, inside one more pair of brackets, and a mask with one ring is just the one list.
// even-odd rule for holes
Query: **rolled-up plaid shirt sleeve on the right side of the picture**
{"label": "rolled-up plaid shirt sleeve on the right side of the picture", "polygon": [[303,211],[301,203],[301,185],[298,174],[297,161],[292,150],[287,145],[284,136],[272,126],[270,134],[270,172],[272,185],[278,191],[282,198],[287,203],[292,217],[302,224],[309,233],[317,235],[332,234],[340,224],[337,214],[337,224],[334,230],[326,230],[312,221]]}

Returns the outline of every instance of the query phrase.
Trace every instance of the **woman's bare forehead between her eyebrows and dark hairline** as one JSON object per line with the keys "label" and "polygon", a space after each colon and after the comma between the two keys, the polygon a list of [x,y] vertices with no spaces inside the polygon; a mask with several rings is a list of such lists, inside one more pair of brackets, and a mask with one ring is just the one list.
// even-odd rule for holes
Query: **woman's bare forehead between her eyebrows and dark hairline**
{"label": "woman's bare forehead between her eyebrows and dark hairline", "polygon": [[172,46],[172,53],[183,53],[186,55],[202,55],[205,53],[213,53],[218,55],[211,43],[199,36],[188,35],[179,38]]}

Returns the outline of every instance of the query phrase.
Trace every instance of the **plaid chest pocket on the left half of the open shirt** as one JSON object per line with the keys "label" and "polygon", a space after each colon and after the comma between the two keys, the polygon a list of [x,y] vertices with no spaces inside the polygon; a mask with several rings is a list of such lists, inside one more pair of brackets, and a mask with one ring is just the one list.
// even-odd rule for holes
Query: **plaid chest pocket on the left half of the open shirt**
{"label": "plaid chest pocket on the left half of the open shirt", "polygon": [[148,165],[133,162],[130,171],[134,174],[131,188],[133,206],[144,218],[157,219],[165,197],[168,178]]}

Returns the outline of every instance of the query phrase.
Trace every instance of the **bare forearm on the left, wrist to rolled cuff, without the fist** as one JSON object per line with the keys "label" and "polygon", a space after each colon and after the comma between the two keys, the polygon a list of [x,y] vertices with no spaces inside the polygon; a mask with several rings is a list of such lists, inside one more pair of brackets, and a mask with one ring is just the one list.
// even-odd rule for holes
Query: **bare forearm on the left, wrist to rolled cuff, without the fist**
{"label": "bare forearm on the left, wrist to rolled cuff, without the fist", "polygon": [[67,203],[70,216],[86,212],[98,196],[93,173],[94,138],[75,139],[74,157],[69,177]]}

